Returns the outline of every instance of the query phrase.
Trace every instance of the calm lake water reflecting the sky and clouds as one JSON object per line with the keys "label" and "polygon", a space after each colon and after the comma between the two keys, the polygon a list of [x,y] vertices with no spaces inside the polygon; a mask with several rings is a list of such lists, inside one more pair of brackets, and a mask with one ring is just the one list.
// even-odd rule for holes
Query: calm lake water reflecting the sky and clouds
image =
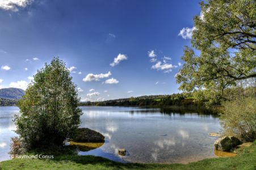
{"label": "calm lake water reflecting the sky and clouds", "polygon": [[[220,128],[211,114],[178,113],[158,108],[81,107],[82,128],[106,137],[103,146],[79,155],[96,155],[119,162],[188,163],[215,157],[215,137]],[[10,138],[16,134],[12,122],[17,107],[0,107],[0,161],[9,158]],[[125,148],[126,156],[117,150]]]}

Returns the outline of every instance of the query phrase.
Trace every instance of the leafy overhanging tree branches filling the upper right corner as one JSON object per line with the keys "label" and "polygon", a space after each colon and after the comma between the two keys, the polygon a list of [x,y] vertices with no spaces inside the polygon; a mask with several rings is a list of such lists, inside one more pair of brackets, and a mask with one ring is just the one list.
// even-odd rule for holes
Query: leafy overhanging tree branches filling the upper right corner
{"label": "leafy overhanging tree branches filling the upper right corner", "polygon": [[201,14],[194,18],[192,48],[185,46],[185,63],[176,78],[181,90],[203,89],[217,102],[225,88],[256,77],[256,3],[208,0],[200,5]]}

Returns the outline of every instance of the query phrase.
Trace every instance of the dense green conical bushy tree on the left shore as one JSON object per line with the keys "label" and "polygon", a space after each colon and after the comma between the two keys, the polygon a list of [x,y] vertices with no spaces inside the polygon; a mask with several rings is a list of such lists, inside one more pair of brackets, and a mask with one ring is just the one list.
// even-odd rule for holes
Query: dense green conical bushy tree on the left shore
{"label": "dense green conical bushy tree on the left shore", "polygon": [[59,58],[45,63],[33,78],[18,103],[16,133],[27,148],[61,145],[80,124],[76,86]]}

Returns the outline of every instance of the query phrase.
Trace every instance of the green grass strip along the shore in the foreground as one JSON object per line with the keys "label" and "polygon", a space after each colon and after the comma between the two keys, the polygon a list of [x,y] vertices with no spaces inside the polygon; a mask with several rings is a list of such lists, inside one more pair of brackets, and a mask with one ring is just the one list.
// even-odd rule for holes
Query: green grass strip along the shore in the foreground
{"label": "green grass strip along the shore in the foreground", "polygon": [[12,159],[0,169],[256,169],[256,141],[230,158],[211,158],[189,164],[117,163],[96,156],[62,154],[54,159]]}

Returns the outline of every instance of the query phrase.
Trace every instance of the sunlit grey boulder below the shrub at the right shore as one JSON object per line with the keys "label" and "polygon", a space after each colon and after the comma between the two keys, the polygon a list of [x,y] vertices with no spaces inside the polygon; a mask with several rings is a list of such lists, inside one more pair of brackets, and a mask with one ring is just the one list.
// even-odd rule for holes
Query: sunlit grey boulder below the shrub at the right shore
{"label": "sunlit grey boulder below the shrub at the right shore", "polygon": [[241,141],[236,137],[222,137],[217,139],[214,143],[214,147],[219,151],[231,151],[234,147],[240,145]]}

